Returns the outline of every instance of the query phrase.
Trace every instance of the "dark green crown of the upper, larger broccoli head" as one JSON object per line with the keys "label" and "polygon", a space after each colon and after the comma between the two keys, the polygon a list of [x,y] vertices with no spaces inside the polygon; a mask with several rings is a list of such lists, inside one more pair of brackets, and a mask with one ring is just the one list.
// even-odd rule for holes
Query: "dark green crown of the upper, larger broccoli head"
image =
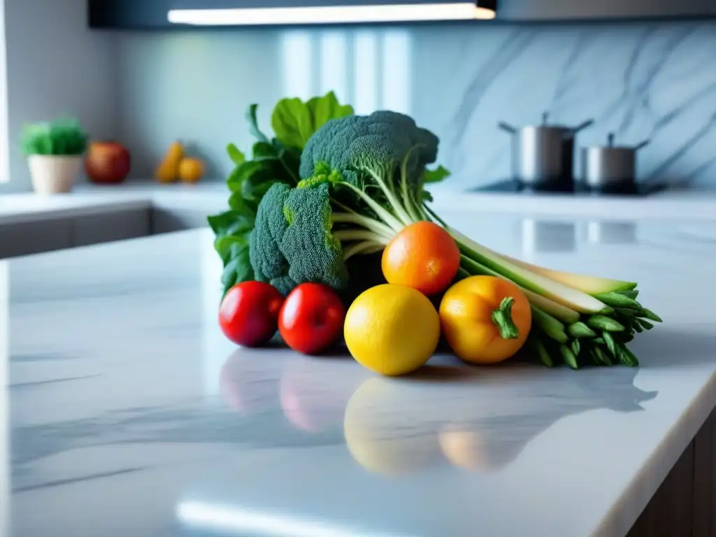
{"label": "dark green crown of the upper, larger broccoli head", "polygon": [[412,117],[382,110],[371,115],[352,115],[326,122],[306,143],[299,173],[311,178],[316,165],[326,163],[357,184],[365,170],[399,170],[405,161],[407,179],[413,185],[425,167],[437,159],[440,140]]}

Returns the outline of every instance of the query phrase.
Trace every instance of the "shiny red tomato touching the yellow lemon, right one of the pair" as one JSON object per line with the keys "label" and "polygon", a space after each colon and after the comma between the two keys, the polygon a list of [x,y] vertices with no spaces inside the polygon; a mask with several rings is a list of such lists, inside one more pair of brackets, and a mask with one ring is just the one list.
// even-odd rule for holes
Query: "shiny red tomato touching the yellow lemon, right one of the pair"
{"label": "shiny red tomato touching the yellow lemon, right one of the pair", "polygon": [[343,332],[346,309],[336,292],[321,284],[301,284],[286,296],[279,332],[294,351],[319,354]]}

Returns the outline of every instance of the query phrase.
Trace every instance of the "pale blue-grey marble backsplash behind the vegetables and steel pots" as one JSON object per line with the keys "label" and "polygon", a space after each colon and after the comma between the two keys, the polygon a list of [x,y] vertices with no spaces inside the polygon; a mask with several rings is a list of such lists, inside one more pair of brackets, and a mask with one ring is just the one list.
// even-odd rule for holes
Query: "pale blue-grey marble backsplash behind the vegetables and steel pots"
{"label": "pale blue-grey marble backsplash behind the vegetables and steel pots", "polygon": [[248,148],[243,112],[268,128],[284,95],[334,89],[357,112],[413,115],[442,140],[465,190],[510,173],[513,125],[593,118],[579,145],[651,144],[639,180],[703,183],[716,176],[716,23],[431,25],[122,34],[120,134],[146,176],[175,139],[193,145],[216,178],[223,148]]}

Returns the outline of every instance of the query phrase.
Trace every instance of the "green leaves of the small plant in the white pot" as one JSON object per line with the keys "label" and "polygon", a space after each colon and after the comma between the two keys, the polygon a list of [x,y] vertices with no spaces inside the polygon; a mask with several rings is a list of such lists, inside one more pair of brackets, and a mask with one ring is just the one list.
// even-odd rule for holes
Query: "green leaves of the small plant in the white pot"
{"label": "green leaves of the small plant in the white pot", "polygon": [[26,156],[77,156],[87,149],[87,139],[78,120],[61,119],[25,125],[20,147]]}

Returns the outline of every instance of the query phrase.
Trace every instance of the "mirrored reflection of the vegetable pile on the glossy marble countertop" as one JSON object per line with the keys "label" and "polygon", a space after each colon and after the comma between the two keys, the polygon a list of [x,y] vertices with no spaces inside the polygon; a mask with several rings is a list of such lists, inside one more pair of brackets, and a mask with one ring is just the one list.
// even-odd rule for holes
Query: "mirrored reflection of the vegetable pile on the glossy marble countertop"
{"label": "mirrored reflection of the vegetable pile on the glossy marble countertop", "polygon": [[563,417],[600,408],[636,412],[657,396],[634,387],[636,369],[600,371],[599,380],[586,372],[569,392],[554,393],[550,374],[519,364],[481,370],[442,356],[411,377],[388,379],[341,374],[347,354],[270,361],[260,354],[238,349],[222,369],[223,397],[240,419],[280,408],[287,425],[281,434],[337,437],[342,428],[354,460],[387,476],[445,463],[492,473]]}

